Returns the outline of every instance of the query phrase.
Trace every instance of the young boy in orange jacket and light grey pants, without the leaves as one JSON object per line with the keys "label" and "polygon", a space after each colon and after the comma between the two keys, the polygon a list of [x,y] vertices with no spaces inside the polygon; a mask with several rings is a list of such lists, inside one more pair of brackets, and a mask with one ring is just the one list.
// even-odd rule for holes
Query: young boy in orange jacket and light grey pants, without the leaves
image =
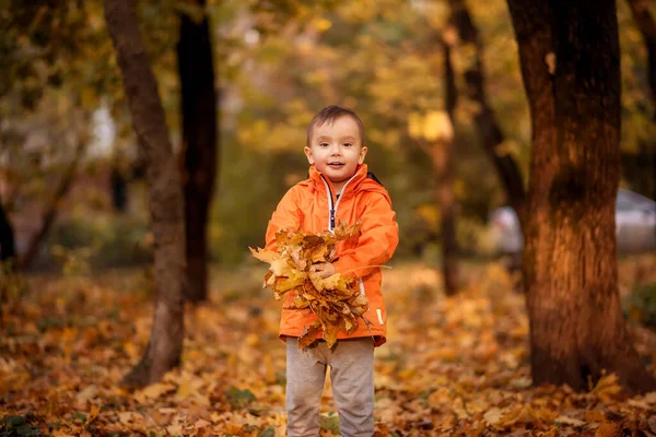
{"label": "young boy in orange jacket and light grey pants, without the leaves", "polygon": [[[342,436],[374,433],[374,347],[385,343],[386,311],[382,273],[398,244],[396,214],[389,194],[364,162],[364,126],[351,109],[328,106],[307,128],[305,155],[309,177],[282,198],[267,228],[267,249],[276,249],[276,233],[332,231],[336,224],[362,221],[358,238],[339,241],[332,262],[316,264],[323,276],[333,273],[359,279],[370,308],[350,335],[338,334],[332,350],[326,342],[298,350],[298,336],[316,320],[309,308],[292,309],[288,293],[280,338],[286,341],[286,410],[289,436],[319,435],[319,404],[330,366],[330,378]],[[373,339],[372,339],[373,338]]]}

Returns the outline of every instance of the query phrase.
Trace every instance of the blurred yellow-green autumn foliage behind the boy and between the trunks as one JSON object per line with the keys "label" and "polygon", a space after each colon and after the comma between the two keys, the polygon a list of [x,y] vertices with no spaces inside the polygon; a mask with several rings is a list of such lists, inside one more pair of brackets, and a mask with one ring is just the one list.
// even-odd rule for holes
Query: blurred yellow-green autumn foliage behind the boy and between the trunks
{"label": "blurred yellow-green autumn foliage behind the boy and between the trunks", "polygon": [[[143,0],[137,7],[169,138],[175,152],[183,153],[176,45],[180,17],[194,22],[198,8],[173,0]],[[48,245],[42,246],[35,267],[52,267],[55,257],[46,249],[54,245],[92,248],[89,260],[95,267],[148,261],[152,236],[143,162],[99,0],[9,2],[3,8],[0,199],[19,253],[26,252],[45,222],[58,181],[74,161],[75,139],[87,135],[77,177],[70,193],[57,202]],[[456,31],[452,58],[460,94],[452,161],[456,239],[459,256],[487,253],[488,212],[519,198],[518,180],[527,178],[530,149],[528,105],[504,1],[209,0],[204,10],[221,96],[218,189],[208,223],[211,260],[238,263],[247,259],[247,246],[261,245],[276,202],[306,176],[302,147],[307,122],[324,106],[338,103],[365,122],[367,163],[390,191],[398,213],[397,257],[436,264],[443,232],[433,165],[409,126],[417,115],[446,110],[443,54],[435,35],[449,28]],[[452,10],[459,17],[452,19]],[[622,185],[651,194],[654,165],[648,156],[656,135],[647,49],[629,3],[618,3],[618,20]],[[79,121],[84,119],[91,123]],[[508,172],[500,169],[506,165]]]}

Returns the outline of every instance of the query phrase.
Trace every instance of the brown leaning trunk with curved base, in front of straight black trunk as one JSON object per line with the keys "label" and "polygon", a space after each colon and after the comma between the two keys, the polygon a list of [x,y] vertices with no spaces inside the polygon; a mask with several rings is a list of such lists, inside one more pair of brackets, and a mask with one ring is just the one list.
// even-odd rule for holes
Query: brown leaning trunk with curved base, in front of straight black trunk
{"label": "brown leaning trunk with curved base, in front of straight black trunk", "polygon": [[155,240],[155,310],[150,341],[124,383],[155,382],[180,362],[184,340],[183,277],[185,225],[179,170],[168,139],[164,109],[139,23],[129,0],[104,0],[105,20],[116,49],[132,126],[147,165],[149,208]]}

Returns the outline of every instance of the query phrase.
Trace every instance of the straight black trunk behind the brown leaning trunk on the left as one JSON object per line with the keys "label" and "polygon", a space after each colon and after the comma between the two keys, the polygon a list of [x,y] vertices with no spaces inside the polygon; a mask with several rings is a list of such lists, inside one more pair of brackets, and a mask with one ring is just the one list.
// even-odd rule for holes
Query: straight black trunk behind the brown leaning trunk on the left
{"label": "straight black trunk behind the brown leaning trunk on the left", "polygon": [[[199,1],[206,5],[206,1]],[[216,179],[216,93],[207,14],[202,22],[180,17],[177,45],[181,86],[181,173],[185,196],[187,270],[185,297],[208,298],[208,215]]]}

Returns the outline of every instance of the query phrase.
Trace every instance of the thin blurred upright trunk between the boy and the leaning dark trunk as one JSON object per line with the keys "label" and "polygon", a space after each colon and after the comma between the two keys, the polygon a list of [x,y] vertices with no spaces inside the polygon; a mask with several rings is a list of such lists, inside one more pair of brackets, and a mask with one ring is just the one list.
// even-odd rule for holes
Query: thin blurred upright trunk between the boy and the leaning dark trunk
{"label": "thin blurred upright trunk between the boy and the leaning dark trunk", "polygon": [[[458,98],[454,68],[450,58],[450,47],[442,44],[444,52],[444,85],[446,90],[446,114],[449,123],[454,126],[454,110]],[[452,128],[453,129],[453,128]],[[433,165],[437,175],[437,205],[440,206],[442,227],[442,273],[444,291],[448,296],[458,292],[458,240],[456,238],[456,197],[454,193],[454,134],[444,134],[433,146]]]}

